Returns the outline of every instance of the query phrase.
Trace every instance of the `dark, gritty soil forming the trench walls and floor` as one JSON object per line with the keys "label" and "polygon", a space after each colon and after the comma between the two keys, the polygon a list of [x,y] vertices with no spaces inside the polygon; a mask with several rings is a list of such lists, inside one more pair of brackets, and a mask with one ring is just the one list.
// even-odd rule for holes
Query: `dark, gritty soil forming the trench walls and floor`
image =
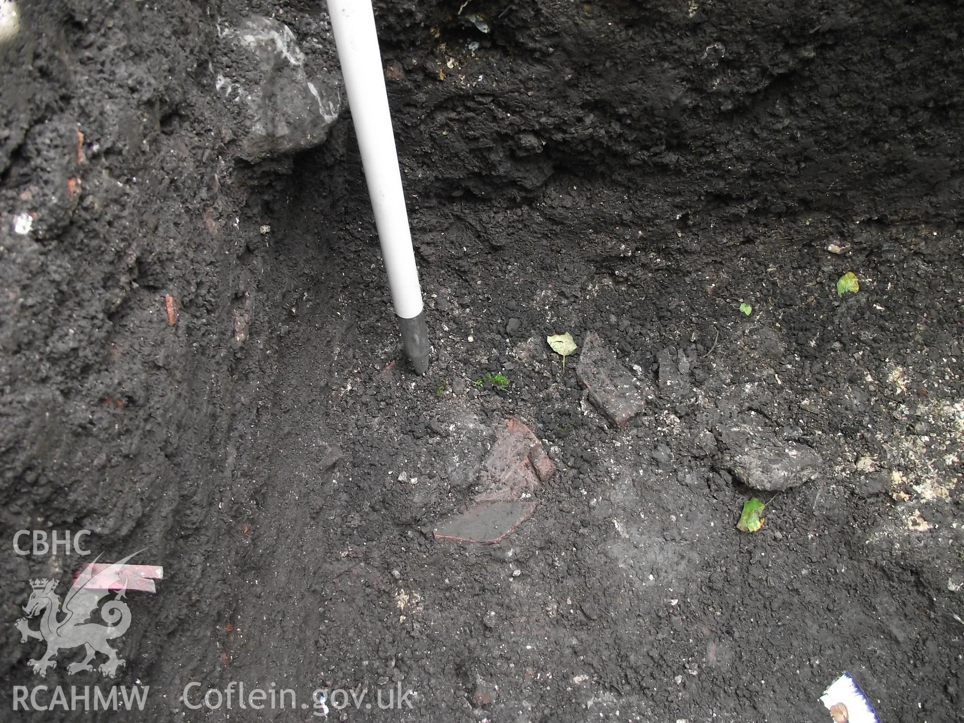
{"label": "dark, gritty soil forming the trench walls and floor", "polygon": [[[414,691],[345,720],[823,721],[848,670],[882,720],[961,720],[964,11],[475,0],[483,34],[458,5],[379,4],[419,378],[350,115],[254,167],[224,132],[215,22],[276,13],[332,69],[316,4],[21,3],[3,537],[87,528],[165,567],[129,597],[113,682],[149,685],[149,712],[36,718],[319,719],[185,709],[187,683],[235,681]],[[549,350],[564,332],[646,389],[627,427]],[[504,391],[476,384],[496,372]],[[435,540],[514,415],[558,469],[534,516]],[[743,486],[736,424],[818,455],[817,479]],[[754,494],[766,523],[738,532]],[[29,578],[80,558],[5,559],[3,706],[109,685],[67,653],[41,682],[12,625]]]}

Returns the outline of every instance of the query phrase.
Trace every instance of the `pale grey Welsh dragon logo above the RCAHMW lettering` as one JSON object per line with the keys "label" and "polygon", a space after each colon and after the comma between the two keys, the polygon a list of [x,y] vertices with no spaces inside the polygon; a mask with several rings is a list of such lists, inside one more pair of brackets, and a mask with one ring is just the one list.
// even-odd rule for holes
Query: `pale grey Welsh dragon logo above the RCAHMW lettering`
{"label": "pale grey Welsh dragon logo above the RCAHMW lettering", "polygon": [[[143,550],[138,550],[143,551]],[[91,615],[98,609],[103,598],[106,598],[121,582],[122,566],[137,552],[129,554],[113,565],[96,566],[100,555],[84,568],[76,577],[73,585],[67,591],[63,605],[54,588],[55,579],[32,579],[30,586],[33,592],[30,599],[23,606],[27,617],[20,618],[14,623],[20,630],[20,642],[28,639],[44,640],[47,652],[40,660],[30,659],[27,662],[35,673],[45,678],[47,669],[57,667],[57,654],[63,649],[79,648],[81,646],[87,655],[80,662],[67,665],[70,675],[82,670],[93,671],[91,661],[97,653],[107,656],[107,661],[101,663],[97,670],[108,678],[117,675],[118,668],[126,661],[118,657],[117,651],[108,645],[109,640],[123,635],[130,627],[130,608],[123,601],[127,593],[126,578],[123,579],[120,590],[115,597],[99,607],[100,618],[106,623],[89,622]],[[95,567],[96,566],[96,567]],[[94,572],[96,571],[96,572]],[[31,629],[28,618],[33,618],[42,612],[40,629]]]}

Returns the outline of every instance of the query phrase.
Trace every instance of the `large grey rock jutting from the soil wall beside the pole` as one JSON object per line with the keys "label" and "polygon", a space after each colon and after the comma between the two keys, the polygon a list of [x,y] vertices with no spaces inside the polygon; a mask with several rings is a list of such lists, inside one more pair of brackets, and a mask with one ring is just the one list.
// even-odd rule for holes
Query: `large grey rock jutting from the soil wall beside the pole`
{"label": "large grey rock jutting from the soil wall beside the pole", "polygon": [[251,15],[219,36],[215,88],[228,102],[241,157],[255,162],[323,143],[341,110],[337,83],[327,73],[308,76],[288,26]]}

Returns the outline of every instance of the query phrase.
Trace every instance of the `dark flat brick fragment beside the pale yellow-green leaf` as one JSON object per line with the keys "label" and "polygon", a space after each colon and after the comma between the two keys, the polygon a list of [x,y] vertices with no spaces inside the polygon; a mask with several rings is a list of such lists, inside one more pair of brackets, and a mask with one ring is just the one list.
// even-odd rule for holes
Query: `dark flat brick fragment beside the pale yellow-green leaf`
{"label": "dark flat brick fragment beside the pale yellow-green leaf", "polygon": [[595,332],[586,335],[582,344],[576,376],[588,389],[593,404],[613,423],[624,426],[643,411],[645,405],[636,380],[603,346],[603,340]]}

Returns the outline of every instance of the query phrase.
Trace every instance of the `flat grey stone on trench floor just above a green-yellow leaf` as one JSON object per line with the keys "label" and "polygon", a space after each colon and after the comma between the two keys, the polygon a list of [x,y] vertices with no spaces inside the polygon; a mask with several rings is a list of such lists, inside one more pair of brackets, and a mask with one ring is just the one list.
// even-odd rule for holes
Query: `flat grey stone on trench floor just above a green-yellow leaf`
{"label": "flat grey stone on trench floor just above a green-yellow leaf", "polygon": [[755,490],[789,490],[817,479],[823,469],[822,458],[812,448],[780,441],[753,417],[721,426],[717,436],[730,471]]}

